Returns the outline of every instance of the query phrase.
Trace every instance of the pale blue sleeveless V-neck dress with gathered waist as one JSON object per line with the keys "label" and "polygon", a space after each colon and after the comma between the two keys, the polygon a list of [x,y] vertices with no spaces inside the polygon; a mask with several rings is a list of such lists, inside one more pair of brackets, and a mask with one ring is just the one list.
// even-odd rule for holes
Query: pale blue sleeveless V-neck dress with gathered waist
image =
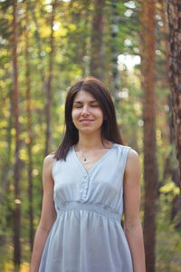
{"label": "pale blue sleeveless V-neck dress with gathered waist", "polygon": [[89,173],[74,146],[66,161],[54,160],[57,219],[43,248],[39,272],[133,272],[120,224],[130,149],[114,143]]}

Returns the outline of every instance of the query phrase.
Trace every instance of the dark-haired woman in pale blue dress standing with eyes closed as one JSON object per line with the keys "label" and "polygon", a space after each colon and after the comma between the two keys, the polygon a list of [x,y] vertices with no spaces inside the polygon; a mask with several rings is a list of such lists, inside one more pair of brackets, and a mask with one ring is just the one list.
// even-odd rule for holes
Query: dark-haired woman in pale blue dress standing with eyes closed
{"label": "dark-haired woman in pale blue dress standing with eyes closed", "polygon": [[145,272],[138,153],[123,145],[100,80],[71,86],[65,123],[61,145],[43,162],[43,209],[30,271]]}

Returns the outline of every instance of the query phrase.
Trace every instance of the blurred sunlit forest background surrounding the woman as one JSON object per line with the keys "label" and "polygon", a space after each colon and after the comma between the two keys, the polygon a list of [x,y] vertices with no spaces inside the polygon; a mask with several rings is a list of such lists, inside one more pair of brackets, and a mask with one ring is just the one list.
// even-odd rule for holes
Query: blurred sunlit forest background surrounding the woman
{"label": "blurred sunlit forest background surrounding the woman", "polygon": [[179,0],[0,0],[0,271],[29,271],[66,93],[106,83],[141,162],[147,272],[181,267]]}

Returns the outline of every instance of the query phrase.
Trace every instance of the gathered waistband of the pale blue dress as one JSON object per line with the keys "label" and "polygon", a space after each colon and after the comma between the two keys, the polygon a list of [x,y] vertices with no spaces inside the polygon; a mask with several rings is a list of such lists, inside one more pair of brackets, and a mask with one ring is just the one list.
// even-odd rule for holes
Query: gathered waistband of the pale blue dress
{"label": "gathered waistband of the pale blue dress", "polygon": [[115,219],[120,222],[120,215],[117,211],[110,209],[109,206],[103,204],[90,204],[90,203],[81,203],[81,202],[64,202],[63,204],[57,205],[57,215],[60,216],[67,210],[74,209],[86,209],[99,213],[102,216],[106,216],[110,219]]}

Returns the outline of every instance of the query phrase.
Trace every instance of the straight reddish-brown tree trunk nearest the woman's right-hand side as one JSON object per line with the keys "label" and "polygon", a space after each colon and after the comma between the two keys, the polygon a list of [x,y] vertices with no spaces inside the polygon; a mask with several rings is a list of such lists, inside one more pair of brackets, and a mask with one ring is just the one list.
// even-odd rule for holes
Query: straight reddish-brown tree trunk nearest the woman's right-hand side
{"label": "straight reddish-brown tree trunk nearest the woman's right-hand side", "polygon": [[141,73],[144,101],[144,240],[147,272],[155,271],[157,160],[155,105],[155,3],[142,1]]}

